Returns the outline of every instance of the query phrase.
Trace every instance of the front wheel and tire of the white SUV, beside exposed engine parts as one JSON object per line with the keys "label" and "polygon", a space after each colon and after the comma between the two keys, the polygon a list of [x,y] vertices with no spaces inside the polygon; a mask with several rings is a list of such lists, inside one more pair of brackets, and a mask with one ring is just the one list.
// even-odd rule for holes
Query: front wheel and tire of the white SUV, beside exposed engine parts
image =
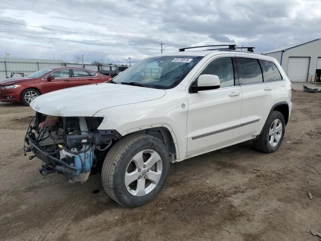
{"label": "front wheel and tire of the white SUV, beside exposed engine parts", "polygon": [[108,152],[101,178],[109,197],[123,206],[135,207],[156,197],[169,170],[166,146],[153,136],[133,134],[119,140]]}

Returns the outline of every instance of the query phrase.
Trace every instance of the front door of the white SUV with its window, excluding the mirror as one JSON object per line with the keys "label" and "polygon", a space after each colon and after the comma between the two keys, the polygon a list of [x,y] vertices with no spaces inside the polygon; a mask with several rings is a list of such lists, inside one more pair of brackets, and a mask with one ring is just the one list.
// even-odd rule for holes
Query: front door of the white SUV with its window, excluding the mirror
{"label": "front door of the white SUV with its window, excluding the mirror", "polygon": [[[218,149],[238,140],[242,91],[235,70],[232,56],[211,60],[201,74],[217,75],[220,88],[188,93],[187,156]],[[197,84],[197,79],[193,84]]]}

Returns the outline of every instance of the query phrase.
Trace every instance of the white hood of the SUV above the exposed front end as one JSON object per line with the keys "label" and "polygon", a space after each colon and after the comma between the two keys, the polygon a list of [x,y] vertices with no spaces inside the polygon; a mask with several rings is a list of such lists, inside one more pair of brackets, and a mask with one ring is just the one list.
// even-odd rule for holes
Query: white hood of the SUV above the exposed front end
{"label": "white hood of the SUV above the exposed front end", "polygon": [[54,116],[93,116],[97,111],[118,105],[150,101],[166,91],[124,84],[100,83],[53,91],[35,98],[30,106]]}

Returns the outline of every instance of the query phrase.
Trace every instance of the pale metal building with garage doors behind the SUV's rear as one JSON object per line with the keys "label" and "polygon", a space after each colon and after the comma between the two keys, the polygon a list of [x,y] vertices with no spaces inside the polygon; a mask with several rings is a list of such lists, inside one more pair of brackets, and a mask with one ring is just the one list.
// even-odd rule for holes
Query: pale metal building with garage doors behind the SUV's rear
{"label": "pale metal building with garage doors behind the SUV's rear", "polygon": [[292,82],[320,81],[321,39],[286,45],[264,54],[274,57]]}

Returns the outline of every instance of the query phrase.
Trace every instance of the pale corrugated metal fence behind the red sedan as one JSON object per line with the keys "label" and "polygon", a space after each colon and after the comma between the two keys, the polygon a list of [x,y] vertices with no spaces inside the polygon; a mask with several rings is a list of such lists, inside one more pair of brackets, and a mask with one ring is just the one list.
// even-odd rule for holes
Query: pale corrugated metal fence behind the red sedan
{"label": "pale corrugated metal fence behind the red sedan", "polygon": [[[23,73],[29,75],[35,71],[45,68],[57,68],[61,66],[70,66],[82,68],[82,64],[66,63],[63,60],[51,59],[21,59],[21,58],[0,58],[0,80],[10,78],[12,73]],[[85,64],[85,69],[98,71],[98,66],[93,64]],[[108,64],[103,64],[101,69],[110,69]],[[14,77],[21,77],[15,74]]]}

